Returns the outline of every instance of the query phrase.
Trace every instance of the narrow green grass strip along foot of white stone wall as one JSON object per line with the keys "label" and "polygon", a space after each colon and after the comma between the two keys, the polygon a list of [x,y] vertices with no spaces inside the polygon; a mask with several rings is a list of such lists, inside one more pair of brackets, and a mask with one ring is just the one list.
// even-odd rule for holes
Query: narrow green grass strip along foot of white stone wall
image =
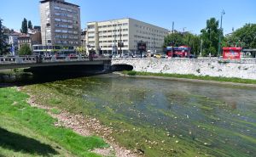
{"label": "narrow green grass strip along foot of white stone wall", "polygon": [[[123,74],[129,75],[131,71],[123,71]],[[247,83],[247,84],[256,84],[256,80],[251,79],[241,79],[236,77],[217,77],[217,76],[195,76],[195,75],[183,75],[183,74],[165,74],[165,73],[151,73],[151,72],[138,72],[134,71],[135,76],[164,76],[164,77],[177,77],[177,78],[186,78],[186,79],[197,79],[197,80],[207,80],[207,81],[227,81],[235,83]]]}

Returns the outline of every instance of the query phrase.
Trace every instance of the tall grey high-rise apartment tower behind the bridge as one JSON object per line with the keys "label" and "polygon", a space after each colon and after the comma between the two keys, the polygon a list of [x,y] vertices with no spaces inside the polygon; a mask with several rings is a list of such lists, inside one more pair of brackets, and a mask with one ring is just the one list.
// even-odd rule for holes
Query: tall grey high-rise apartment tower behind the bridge
{"label": "tall grey high-rise apartment tower behind the bridge", "polygon": [[80,8],[64,0],[40,1],[43,45],[80,46]]}

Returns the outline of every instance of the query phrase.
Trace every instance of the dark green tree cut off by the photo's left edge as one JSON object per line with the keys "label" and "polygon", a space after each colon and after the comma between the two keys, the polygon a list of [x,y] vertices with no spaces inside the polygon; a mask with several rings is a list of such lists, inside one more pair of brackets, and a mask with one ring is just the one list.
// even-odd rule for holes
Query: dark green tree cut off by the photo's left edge
{"label": "dark green tree cut off by the photo's left edge", "polygon": [[9,44],[6,42],[8,38],[7,31],[8,29],[2,25],[2,20],[0,20],[0,55],[9,53]]}

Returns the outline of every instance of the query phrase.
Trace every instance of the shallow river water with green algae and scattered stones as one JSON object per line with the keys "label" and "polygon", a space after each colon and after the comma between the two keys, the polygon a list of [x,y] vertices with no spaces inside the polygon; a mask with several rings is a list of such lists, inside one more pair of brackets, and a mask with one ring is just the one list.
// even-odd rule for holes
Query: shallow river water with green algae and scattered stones
{"label": "shallow river water with green algae and scattered stones", "polygon": [[114,75],[48,86],[76,93],[117,142],[146,156],[256,156],[255,88]]}

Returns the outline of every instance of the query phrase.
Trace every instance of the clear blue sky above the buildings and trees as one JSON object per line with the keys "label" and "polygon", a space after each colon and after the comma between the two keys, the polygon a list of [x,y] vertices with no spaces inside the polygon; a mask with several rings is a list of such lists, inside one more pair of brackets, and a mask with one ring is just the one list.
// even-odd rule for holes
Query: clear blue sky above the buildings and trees
{"label": "clear blue sky above the buildings and trees", "polygon": [[[224,34],[256,23],[255,0],[66,0],[81,8],[81,28],[98,20],[133,18],[177,31],[200,34],[207,20],[220,20],[224,10]],[[1,0],[0,19],[10,29],[20,30],[22,20],[40,25],[39,0]]]}

